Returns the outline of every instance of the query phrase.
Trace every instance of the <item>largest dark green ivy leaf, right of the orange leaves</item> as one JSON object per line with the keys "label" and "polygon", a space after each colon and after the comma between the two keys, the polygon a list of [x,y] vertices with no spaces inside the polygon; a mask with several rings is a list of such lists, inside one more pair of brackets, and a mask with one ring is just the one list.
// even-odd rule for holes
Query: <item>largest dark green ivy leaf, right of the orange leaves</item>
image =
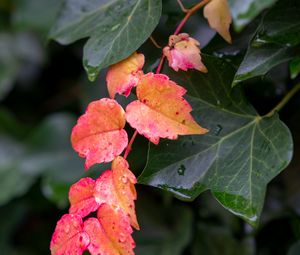
{"label": "largest dark green ivy leaf, right of the orange leaves", "polygon": [[231,90],[235,70],[205,57],[208,74],[170,73],[188,89],[188,101],[210,132],[150,145],[139,182],[194,199],[210,189],[229,211],[256,225],[266,186],[290,162],[293,143],[279,120],[259,116],[239,87]]}

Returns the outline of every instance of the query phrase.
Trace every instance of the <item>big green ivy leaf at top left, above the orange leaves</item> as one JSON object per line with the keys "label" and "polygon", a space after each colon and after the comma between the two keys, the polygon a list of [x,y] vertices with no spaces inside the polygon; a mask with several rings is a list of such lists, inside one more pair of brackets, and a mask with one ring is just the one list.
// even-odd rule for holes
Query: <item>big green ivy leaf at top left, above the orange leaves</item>
{"label": "big green ivy leaf at top left, above the orange leaves", "polygon": [[161,0],[67,0],[50,37],[69,44],[89,37],[83,62],[90,80],[138,49],[161,15]]}

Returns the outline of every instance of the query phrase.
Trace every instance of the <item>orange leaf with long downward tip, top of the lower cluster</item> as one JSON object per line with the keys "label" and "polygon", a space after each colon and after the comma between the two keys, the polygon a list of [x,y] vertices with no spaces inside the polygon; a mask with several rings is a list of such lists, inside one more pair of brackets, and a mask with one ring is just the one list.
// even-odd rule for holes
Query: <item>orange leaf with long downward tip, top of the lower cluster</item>
{"label": "orange leaf with long downward tip, top of the lower cluster", "polygon": [[121,208],[130,218],[130,224],[139,229],[136,219],[134,200],[136,191],[135,176],[128,169],[127,161],[117,157],[112,163],[112,171],[107,170],[96,180],[95,199],[100,204]]}

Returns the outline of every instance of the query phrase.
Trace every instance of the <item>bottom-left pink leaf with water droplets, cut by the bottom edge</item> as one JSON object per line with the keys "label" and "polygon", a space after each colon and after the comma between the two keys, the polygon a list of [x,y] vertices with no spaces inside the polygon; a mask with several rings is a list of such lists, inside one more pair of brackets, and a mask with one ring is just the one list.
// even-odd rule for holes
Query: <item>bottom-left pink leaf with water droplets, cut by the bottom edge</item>
{"label": "bottom-left pink leaf with water droplets, cut by the bottom edge", "polygon": [[83,231],[81,217],[65,214],[57,222],[50,250],[52,255],[81,255],[89,243],[89,236]]}

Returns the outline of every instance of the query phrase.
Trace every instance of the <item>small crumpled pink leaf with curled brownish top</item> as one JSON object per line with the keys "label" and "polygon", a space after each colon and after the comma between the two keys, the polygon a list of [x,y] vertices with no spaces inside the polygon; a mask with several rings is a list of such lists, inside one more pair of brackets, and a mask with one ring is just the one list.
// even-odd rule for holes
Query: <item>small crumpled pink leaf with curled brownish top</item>
{"label": "small crumpled pink leaf with curled brownish top", "polygon": [[196,69],[207,73],[207,68],[201,60],[199,46],[200,43],[186,33],[171,35],[163,53],[169,61],[169,66],[176,72],[179,69]]}

